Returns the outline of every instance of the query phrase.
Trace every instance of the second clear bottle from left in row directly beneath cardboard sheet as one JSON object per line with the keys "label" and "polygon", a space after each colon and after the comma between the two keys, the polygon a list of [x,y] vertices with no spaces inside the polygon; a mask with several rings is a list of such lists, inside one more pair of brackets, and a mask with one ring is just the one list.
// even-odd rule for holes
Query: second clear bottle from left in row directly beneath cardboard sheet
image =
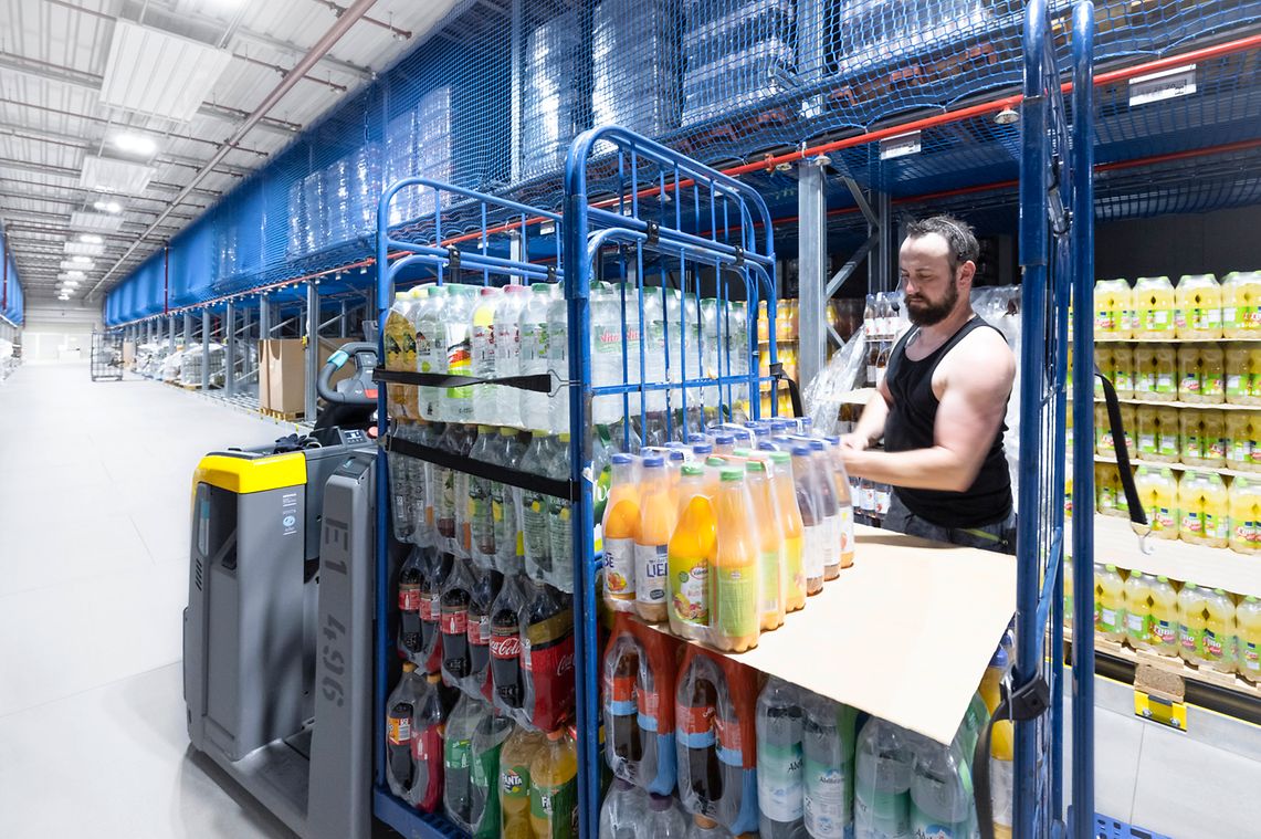
{"label": "second clear bottle from left in row directly beneath cardboard sheet", "polygon": [[844,839],[854,826],[854,723],[857,713],[802,691],[803,811],[815,839]]}

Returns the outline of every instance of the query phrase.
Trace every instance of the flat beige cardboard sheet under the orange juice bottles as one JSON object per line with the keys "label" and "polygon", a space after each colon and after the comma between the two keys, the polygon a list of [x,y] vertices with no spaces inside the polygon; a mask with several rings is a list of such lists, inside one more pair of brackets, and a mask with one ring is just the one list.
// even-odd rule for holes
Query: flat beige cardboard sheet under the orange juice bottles
{"label": "flat beige cardboard sheet under the orange juice bottles", "polygon": [[1015,613],[1015,558],[855,530],[854,566],[730,657],[948,743]]}

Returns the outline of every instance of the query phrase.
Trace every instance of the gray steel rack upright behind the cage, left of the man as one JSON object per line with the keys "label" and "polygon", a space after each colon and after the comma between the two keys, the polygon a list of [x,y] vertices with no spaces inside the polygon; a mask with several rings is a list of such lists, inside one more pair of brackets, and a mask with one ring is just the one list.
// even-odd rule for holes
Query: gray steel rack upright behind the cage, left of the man
{"label": "gray steel rack upright behind the cage, left of the man", "polygon": [[802,160],[797,169],[798,376],[802,387],[827,360],[827,214],[823,167],[827,158]]}

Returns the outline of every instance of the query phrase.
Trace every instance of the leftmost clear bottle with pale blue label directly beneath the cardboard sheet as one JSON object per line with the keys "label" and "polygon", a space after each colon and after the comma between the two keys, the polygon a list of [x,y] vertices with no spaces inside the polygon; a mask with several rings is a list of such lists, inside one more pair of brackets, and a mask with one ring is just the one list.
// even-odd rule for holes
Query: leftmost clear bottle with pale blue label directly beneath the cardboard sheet
{"label": "leftmost clear bottle with pale blue label directly beneath the cardboard sheet", "polygon": [[758,809],[760,835],[805,836],[801,690],[772,678],[758,696]]}

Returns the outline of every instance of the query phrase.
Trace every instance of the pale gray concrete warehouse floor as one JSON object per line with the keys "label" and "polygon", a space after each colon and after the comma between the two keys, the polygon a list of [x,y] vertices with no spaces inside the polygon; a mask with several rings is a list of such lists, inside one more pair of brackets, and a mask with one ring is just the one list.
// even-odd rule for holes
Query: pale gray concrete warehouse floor
{"label": "pale gray concrete warehouse floor", "polygon": [[[188,491],[202,454],[291,428],[149,381],[0,384],[0,836],[288,836],[189,752]],[[1175,839],[1261,835],[1261,729],[1188,733],[1097,681],[1097,810]]]}

